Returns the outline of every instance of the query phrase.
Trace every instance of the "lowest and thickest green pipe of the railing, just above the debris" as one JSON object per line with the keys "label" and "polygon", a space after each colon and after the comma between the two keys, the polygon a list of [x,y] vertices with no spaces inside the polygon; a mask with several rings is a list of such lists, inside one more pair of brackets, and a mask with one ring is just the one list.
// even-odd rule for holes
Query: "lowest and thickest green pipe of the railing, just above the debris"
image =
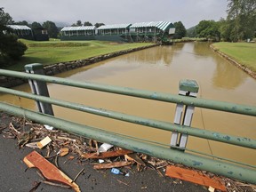
{"label": "lowest and thickest green pipe of the railing, just above the debris", "polygon": [[15,116],[24,116],[30,120],[36,121],[37,123],[52,125],[53,127],[65,132],[72,132],[83,137],[92,138],[93,140],[107,142],[121,148],[127,148],[135,152],[147,154],[148,156],[156,156],[178,164],[184,164],[207,172],[221,174],[228,178],[244,180],[246,182],[256,184],[256,172],[251,168],[244,168],[235,164],[221,162],[220,160],[213,160],[204,156],[184,153],[172,148],[164,148],[151,143],[141,142],[140,140],[132,140],[124,136],[117,137],[111,132],[103,130],[100,130],[99,132],[97,128],[92,128],[83,124],[76,124],[54,116],[39,114],[34,111],[18,108],[6,103],[0,103],[0,110]]}

